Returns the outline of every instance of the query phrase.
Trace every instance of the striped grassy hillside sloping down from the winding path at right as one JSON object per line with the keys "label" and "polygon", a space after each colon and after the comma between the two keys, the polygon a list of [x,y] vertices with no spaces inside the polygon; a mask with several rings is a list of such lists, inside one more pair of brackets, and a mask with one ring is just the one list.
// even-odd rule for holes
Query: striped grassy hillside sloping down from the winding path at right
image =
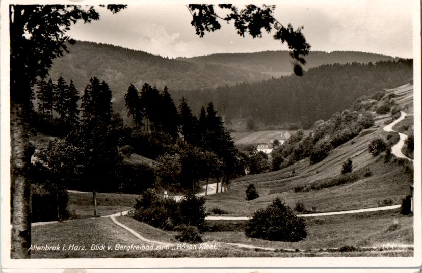
{"label": "striped grassy hillside sloping down from the winding path at right", "polygon": [[[410,92],[410,87],[405,85],[389,92],[401,94],[404,90]],[[401,98],[397,96],[394,100],[400,101]],[[372,128],[362,131],[358,137],[332,150],[321,162],[310,165],[308,158],[305,158],[277,172],[236,179],[228,192],[208,196],[206,206],[222,208],[233,215],[252,215],[257,208],[268,206],[276,196],[282,197],[291,207],[301,202],[306,209],[315,207],[319,212],[377,207],[387,203],[401,204],[402,199],[410,192],[413,174],[408,172],[402,160],[384,163],[382,156],[373,157],[368,153],[371,140],[387,138],[388,134],[382,128],[384,122],[391,119],[391,114],[378,115]],[[395,138],[395,142],[397,141],[398,138]],[[295,188],[299,186],[330,182],[339,176],[342,163],[349,157],[353,162],[353,171],[369,170],[372,175],[359,177],[355,182],[339,186],[295,192]],[[259,198],[246,201],[245,190],[250,183],[256,187]]]}

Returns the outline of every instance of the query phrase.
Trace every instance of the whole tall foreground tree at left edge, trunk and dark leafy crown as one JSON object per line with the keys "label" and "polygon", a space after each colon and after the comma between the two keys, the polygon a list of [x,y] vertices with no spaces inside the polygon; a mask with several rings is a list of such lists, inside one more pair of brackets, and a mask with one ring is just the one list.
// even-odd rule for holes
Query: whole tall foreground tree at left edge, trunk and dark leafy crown
{"label": "whole tall foreground tree at left edge, trunk and dark leafy crown", "polygon": [[[113,13],[125,7],[107,5]],[[78,5],[9,5],[12,258],[30,257],[30,184],[25,174],[34,152],[28,137],[32,87],[45,78],[52,60],[67,51],[65,42],[74,43],[66,36],[70,26],[98,19],[93,6],[86,10]]]}

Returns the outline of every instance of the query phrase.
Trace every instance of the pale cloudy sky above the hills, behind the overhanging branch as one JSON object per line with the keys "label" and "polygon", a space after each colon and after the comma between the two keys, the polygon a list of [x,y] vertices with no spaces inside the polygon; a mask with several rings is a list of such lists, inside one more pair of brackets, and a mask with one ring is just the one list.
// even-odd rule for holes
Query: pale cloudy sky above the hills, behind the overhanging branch
{"label": "pale cloudy sky above the hills, behind the overhanging branch", "polygon": [[[245,5],[230,3],[239,8]],[[260,0],[246,4],[250,3],[275,4],[274,17],[280,23],[291,23],[295,29],[303,26],[311,51],[350,50],[412,58],[412,0]],[[185,5],[165,0],[129,2],[127,9],[117,14],[97,8],[100,20],[78,22],[69,35],[76,40],[114,44],[169,58],[288,49],[271,34],[264,33],[261,39],[241,37],[232,24],[225,22],[221,22],[220,30],[199,38]],[[219,8],[216,12],[221,16],[227,13]]]}

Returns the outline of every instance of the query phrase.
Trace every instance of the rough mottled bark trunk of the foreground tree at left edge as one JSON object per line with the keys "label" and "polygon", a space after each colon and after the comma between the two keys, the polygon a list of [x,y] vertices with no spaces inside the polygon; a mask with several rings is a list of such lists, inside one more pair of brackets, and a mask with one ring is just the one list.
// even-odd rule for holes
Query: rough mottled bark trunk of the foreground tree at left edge
{"label": "rough mottled bark trunk of the foreground tree at left edge", "polygon": [[11,103],[11,253],[12,259],[30,258],[31,185],[27,180],[34,147],[29,142],[29,125],[24,121],[24,104]]}

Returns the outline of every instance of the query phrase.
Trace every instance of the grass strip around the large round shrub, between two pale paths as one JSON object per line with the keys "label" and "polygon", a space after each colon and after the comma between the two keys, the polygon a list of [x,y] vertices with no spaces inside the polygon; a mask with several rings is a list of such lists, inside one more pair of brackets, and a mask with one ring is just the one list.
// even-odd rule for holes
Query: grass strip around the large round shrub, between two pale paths
{"label": "grass strip around the large round shrub, between two pale paths", "polygon": [[224,232],[207,232],[203,238],[261,247],[301,250],[340,248],[344,245],[382,247],[387,243],[413,244],[413,217],[401,215],[400,210],[309,217],[305,218],[305,221],[308,236],[299,242],[249,238],[245,235],[243,227],[234,227],[233,230]]}

